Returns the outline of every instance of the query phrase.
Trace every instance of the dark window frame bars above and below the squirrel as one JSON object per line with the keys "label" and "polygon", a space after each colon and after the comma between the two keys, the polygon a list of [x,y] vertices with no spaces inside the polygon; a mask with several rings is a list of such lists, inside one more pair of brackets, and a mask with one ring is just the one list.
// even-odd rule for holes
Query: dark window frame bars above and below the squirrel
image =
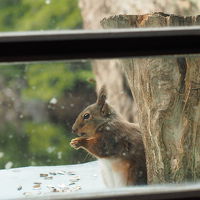
{"label": "dark window frame bars above and below the squirrel", "polygon": [[[200,53],[200,27],[45,31],[0,34],[0,63],[192,55]],[[200,185],[124,188],[102,194],[49,199],[198,199]],[[33,199],[45,199],[35,197]]]}

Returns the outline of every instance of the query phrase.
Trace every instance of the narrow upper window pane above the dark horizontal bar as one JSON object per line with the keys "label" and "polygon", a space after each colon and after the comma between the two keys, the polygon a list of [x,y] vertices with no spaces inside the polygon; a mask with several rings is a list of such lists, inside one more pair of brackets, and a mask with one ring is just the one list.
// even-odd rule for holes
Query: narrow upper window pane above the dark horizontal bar
{"label": "narrow upper window pane above the dark horizontal bar", "polygon": [[[112,18],[114,23],[106,28],[190,26],[198,25],[199,18],[177,16],[196,16],[199,9],[198,0],[1,0],[0,32],[101,29],[100,21],[115,15],[117,18],[121,15],[122,23],[117,24],[114,22],[116,18]],[[159,15],[160,23],[152,17],[155,12],[177,16]],[[125,16],[137,14],[143,15],[138,18],[137,25]]]}

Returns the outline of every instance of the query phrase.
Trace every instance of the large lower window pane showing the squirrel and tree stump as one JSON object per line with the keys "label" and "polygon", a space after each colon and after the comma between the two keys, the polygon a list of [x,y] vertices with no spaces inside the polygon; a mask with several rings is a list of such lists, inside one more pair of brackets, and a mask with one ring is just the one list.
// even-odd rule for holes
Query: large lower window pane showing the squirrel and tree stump
{"label": "large lower window pane showing the squirrel and tree stump", "polygon": [[199,61],[183,55],[1,64],[0,177],[22,177],[15,193],[0,199],[146,185],[147,178],[156,185],[198,182]]}

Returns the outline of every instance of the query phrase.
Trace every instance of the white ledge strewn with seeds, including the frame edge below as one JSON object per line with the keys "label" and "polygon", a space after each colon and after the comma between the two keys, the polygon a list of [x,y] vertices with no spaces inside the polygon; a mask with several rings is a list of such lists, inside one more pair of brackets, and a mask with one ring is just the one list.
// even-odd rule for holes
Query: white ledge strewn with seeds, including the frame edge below
{"label": "white ledge strewn with seeds, including the frame edge below", "polygon": [[[0,170],[0,199],[166,200],[199,199],[200,197],[200,184],[152,185],[107,189],[102,183],[97,164],[97,162],[90,162],[68,166],[24,167]],[[53,173],[56,173],[56,175]],[[40,177],[41,174],[48,174],[48,177],[53,178],[46,179],[45,177]],[[73,182],[70,179],[75,179],[73,185],[69,185],[69,183]],[[38,183],[41,183],[40,187],[34,188]],[[59,190],[64,185],[70,190],[65,192],[53,191],[53,187]]]}

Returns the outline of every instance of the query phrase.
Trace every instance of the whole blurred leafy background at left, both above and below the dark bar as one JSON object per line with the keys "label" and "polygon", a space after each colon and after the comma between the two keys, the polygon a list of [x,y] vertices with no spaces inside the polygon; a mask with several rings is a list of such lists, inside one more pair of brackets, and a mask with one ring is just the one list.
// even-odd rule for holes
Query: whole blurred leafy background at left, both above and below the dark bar
{"label": "whole blurred leafy background at left, both above and below the dark bar", "polygon": [[[1,0],[0,31],[82,28],[77,0]],[[91,160],[69,146],[78,113],[95,101],[86,61],[0,65],[0,168]]]}

